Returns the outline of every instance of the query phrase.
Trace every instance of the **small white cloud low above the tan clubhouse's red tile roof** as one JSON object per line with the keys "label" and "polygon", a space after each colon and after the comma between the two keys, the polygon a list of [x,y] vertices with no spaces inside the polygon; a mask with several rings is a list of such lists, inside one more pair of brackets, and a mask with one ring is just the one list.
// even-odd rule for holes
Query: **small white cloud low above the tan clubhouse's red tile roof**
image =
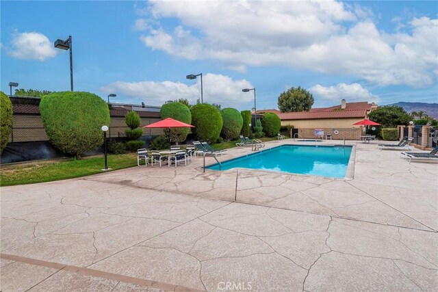
{"label": "small white cloud low above the tan clubhouse's red tile roof", "polygon": [[342,98],[345,98],[347,102],[355,101],[368,101],[369,103],[379,103],[380,98],[375,94],[372,94],[367,89],[363,88],[359,83],[338,83],[332,86],[322,86],[317,84],[309,91],[313,94],[315,98],[340,102]]}

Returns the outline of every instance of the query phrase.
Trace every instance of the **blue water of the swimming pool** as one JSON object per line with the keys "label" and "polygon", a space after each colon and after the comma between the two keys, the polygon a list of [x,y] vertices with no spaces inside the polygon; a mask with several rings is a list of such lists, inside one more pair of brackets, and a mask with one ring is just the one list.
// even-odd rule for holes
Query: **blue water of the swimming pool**
{"label": "blue water of the swimming pool", "polygon": [[[220,170],[251,168],[292,174],[344,178],[351,146],[283,145],[222,162]],[[210,165],[219,170],[219,164]]]}

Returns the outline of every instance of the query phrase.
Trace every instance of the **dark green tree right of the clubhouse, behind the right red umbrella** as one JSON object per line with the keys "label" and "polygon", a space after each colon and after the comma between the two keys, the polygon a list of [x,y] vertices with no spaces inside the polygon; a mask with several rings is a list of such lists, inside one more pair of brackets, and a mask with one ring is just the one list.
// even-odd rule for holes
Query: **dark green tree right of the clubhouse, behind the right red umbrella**
{"label": "dark green tree right of the clubhouse, behind the right red umbrella", "polygon": [[368,118],[374,122],[378,122],[383,128],[394,128],[397,125],[407,125],[411,120],[409,115],[402,107],[396,105],[387,105],[378,107],[376,110],[368,114]]}

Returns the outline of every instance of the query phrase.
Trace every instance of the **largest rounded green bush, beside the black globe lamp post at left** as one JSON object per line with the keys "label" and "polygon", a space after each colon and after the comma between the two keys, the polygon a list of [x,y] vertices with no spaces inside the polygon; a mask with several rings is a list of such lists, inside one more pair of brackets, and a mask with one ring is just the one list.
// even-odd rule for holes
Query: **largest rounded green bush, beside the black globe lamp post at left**
{"label": "largest rounded green bush, beside the black globe lamp post at left", "polygon": [[40,102],[42,124],[51,144],[77,159],[103,144],[103,125],[110,110],[102,98],[89,92],[54,92]]}

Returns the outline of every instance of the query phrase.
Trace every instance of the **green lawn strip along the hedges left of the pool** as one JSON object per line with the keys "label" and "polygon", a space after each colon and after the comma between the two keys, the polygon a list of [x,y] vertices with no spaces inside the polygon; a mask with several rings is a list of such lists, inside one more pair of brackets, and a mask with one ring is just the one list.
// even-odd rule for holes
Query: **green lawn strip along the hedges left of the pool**
{"label": "green lawn strip along the hedges left of the pool", "polygon": [[[261,140],[266,142],[276,140],[276,137],[262,138]],[[212,144],[211,147],[216,150],[233,148],[236,142],[240,142],[240,140]],[[113,170],[131,168],[136,165],[137,153],[108,155],[108,167]],[[44,183],[47,181],[60,181],[67,178],[99,174],[104,167],[103,155],[81,160],[67,159],[54,162],[38,161],[24,165],[8,165],[3,166],[0,170],[0,186]]]}

